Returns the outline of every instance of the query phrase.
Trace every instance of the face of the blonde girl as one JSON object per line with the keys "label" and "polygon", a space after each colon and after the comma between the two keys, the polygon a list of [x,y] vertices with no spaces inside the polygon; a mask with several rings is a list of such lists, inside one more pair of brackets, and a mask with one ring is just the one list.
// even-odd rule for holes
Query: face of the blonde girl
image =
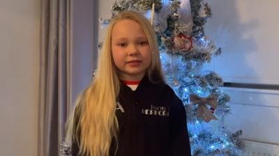
{"label": "face of the blonde girl", "polygon": [[134,20],[120,20],[112,28],[112,57],[122,80],[141,80],[151,63],[146,35]]}

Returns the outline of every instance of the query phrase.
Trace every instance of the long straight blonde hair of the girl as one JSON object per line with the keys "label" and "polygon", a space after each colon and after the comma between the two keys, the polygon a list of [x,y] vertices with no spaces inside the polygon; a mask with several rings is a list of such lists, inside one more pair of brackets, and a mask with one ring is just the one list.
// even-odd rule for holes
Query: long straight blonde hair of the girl
{"label": "long straight blonde hair of the girl", "polygon": [[152,54],[146,76],[153,83],[163,81],[156,34],[149,20],[133,11],[123,11],[116,15],[107,28],[96,75],[89,87],[77,98],[74,115],[69,117],[66,125],[66,143],[77,141],[82,155],[107,156],[112,139],[115,139],[117,145],[119,125],[115,110],[121,81],[112,58],[111,34],[116,22],[127,19],[138,22],[149,41]]}

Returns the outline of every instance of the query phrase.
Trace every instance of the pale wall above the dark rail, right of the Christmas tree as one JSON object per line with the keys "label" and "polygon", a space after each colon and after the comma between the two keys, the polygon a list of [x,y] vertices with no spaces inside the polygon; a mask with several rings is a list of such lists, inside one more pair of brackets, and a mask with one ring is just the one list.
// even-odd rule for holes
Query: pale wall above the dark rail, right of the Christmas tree
{"label": "pale wall above the dark rail, right of the Christmas tree", "polygon": [[225,81],[279,84],[279,1],[210,0],[206,35],[222,47],[212,68]]}

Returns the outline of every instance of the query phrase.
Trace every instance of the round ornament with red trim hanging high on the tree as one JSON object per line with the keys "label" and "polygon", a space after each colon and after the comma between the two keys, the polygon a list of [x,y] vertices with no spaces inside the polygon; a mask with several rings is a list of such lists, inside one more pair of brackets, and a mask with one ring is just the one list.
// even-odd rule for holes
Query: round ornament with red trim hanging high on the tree
{"label": "round ornament with red trim hanging high on the tree", "polygon": [[174,37],[174,46],[179,49],[179,51],[188,52],[193,48],[193,41],[190,36],[185,36],[184,34],[179,34]]}

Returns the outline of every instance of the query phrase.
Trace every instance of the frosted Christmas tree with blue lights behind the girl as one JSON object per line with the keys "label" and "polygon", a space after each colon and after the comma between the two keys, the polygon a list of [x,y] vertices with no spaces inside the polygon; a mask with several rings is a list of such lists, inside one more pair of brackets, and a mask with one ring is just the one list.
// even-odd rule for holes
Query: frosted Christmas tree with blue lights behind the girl
{"label": "frosted Christmas tree with blue lights behind the girl", "polygon": [[[206,38],[204,24],[211,9],[203,0],[116,0],[112,17],[123,10],[138,11],[151,18],[156,31],[167,84],[185,104],[192,155],[238,155],[239,136],[223,126],[229,114],[229,95],[223,79],[204,68],[221,49]],[[110,20],[100,19],[102,26]]]}

